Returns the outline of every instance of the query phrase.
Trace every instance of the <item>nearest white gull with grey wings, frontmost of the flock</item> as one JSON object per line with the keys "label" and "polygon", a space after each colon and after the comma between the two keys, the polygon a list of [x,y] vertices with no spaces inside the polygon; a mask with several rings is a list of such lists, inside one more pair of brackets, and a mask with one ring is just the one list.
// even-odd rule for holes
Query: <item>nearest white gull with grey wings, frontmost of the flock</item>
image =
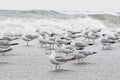
{"label": "nearest white gull with grey wings, frontmost of the flock", "polygon": [[64,64],[65,62],[74,60],[74,58],[67,58],[67,57],[60,56],[56,54],[55,51],[50,51],[46,53],[46,55],[49,55],[50,62],[55,65],[55,70],[57,69],[60,70],[60,65]]}

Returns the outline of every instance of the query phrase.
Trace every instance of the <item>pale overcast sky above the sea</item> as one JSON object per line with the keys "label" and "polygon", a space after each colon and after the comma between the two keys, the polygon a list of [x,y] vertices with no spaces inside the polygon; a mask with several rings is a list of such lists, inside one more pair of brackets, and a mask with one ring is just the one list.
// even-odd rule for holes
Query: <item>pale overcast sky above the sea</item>
{"label": "pale overcast sky above the sea", "polygon": [[120,11],[120,0],[0,0],[0,9]]}

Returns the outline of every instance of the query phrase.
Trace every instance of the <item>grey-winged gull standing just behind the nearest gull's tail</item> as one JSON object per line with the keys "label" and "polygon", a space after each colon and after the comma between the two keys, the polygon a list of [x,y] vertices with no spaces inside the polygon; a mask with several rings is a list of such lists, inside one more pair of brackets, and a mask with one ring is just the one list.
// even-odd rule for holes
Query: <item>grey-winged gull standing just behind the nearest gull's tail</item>
{"label": "grey-winged gull standing just behind the nearest gull's tail", "polygon": [[90,51],[80,51],[80,50],[76,50],[73,52],[73,56],[75,59],[78,60],[78,63],[80,62],[80,59],[82,60],[83,58],[89,56],[89,55],[93,55],[96,54],[97,52],[90,52]]}

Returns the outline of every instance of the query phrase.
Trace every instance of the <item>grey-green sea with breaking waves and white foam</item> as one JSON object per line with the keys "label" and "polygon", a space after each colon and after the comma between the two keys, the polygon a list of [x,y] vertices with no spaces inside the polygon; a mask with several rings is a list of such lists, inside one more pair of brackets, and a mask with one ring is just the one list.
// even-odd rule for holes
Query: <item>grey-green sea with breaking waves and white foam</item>
{"label": "grey-green sea with breaking waves and white foam", "polygon": [[29,34],[36,29],[60,33],[85,28],[119,28],[120,17],[110,12],[58,12],[46,10],[0,10],[0,34]]}

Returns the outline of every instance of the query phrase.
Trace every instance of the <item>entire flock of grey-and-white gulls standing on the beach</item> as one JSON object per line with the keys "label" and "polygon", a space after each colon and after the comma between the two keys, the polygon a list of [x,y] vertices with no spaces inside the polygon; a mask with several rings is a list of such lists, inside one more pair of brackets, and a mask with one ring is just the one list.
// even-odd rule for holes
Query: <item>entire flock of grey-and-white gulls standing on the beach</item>
{"label": "entire flock of grey-and-white gulls standing on the beach", "polygon": [[[65,31],[61,34],[50,33],[47,31],[42,31],[37,29],[35,33],[37,34],[25,34],[21,38],[23,41],[26,41],[27,46],[29,43],[35,39],[39,40],[40,46],[50,47],[50,50],[46,52],[46,55],[49,55],[49,60],[52,64],[55,65],[55,70],[60,70],[61,64],[77,60],[78,63],[82,61],[87,56],[96,54],[97,52],[91,52],[84,50],[86,47],[95,45],[95,41],[98,38],[101,38],[102,49],[111,48],[112,44],[120,42],[120,31],[114,30],[111,31],[113,34],[104,34],[102,29],[99,28],[86,28],[80,31]],[[74,42],[75,39],[82,37],[82,41]],[[13,48],[11,46],[19,45],[14,41],[19,38],[3,36],[0,38],[0,53],[5,55],[5,52],[11,51]],[[59,54],[63,53],[65,56]]]}

